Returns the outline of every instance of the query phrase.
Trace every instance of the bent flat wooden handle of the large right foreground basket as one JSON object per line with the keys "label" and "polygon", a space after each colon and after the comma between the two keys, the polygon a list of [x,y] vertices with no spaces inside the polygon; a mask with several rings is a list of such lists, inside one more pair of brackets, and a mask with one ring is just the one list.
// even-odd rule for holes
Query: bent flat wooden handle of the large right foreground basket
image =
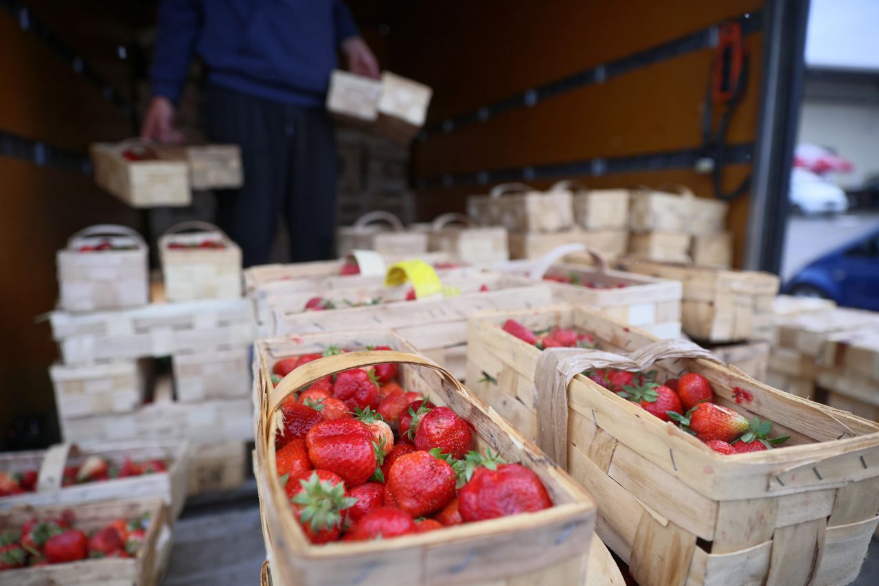
{"label": "bent flat wooden handle of the large right foreground basket", "polygon": [[[568,429],[568,385],[584,370],[616,369],[638,372],[660,360],[705,358],[723,362],[705,348],[689,340],[660,340],[628,354],[615,354],[589,348],[547,348],[541,352],[534,371],[534,397],[537,397],[537,445],[563,470],[568,467],[568,437],[558,433]],[[544,392],[538,392],[543,389]],[[549,389],[550,392],[546,392]]]}

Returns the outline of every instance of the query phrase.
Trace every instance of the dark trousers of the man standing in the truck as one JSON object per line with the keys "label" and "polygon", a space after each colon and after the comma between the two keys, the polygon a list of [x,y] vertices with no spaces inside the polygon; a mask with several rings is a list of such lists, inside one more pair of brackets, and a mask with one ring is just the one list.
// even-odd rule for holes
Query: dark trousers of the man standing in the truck
{"label": "dark trousers of the man standing in the truck", "polygon": [[245,267],[265,264],[281,217],[290,260],[325,260],[336,228],[338,160],[323,109],[207,88],[207,137],[241,146],[244,186],[217,191],[217,224],[241,246]]}

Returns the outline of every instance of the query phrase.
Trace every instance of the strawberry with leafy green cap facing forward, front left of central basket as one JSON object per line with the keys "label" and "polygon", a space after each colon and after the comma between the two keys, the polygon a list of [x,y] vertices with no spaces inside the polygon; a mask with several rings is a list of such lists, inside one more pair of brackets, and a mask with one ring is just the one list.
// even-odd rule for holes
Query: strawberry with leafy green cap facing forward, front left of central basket
{"label": "strawberry with leafy green cap facing forward, front left of central basket", "polygon": [[346,494],[345,481],[328,470],[302,472],[293,480],[300,485],[292,499],[294,508],[309,541],[336,541],[342,533],[345,510],[357,502]]}

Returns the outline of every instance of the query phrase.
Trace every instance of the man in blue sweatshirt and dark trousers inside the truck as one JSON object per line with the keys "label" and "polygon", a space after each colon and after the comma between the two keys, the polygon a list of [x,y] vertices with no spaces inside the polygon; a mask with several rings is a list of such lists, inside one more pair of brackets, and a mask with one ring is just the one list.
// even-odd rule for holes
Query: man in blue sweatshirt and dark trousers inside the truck
{"label": "man in blue sweatshirt and dark trousers inside the truck", "polygon": [[152,99],[142,136],[178,142],[175,105],[193,52],[207,66],[207,138],[241,146],[244,187],[218,192],[217,223],[244,266],[265,263],[280,217],[291,259],[329,258],[337,155],[324,111],[338,50],[348,69],[378,77],[343,0],[163,0]]}

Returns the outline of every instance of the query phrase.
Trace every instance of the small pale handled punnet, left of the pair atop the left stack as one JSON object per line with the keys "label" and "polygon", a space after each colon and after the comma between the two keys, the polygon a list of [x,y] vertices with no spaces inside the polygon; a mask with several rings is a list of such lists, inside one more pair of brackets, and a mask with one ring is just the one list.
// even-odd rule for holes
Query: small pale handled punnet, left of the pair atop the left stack
{"label": "small pale handled punnet, left of the pair atop the left stack", "polygon": [[[129,250],[79,252],[103,242]],[[59,305],[64,311],[105,311],[149,303],[147,243],[141,235],[113,224],[76,232],[58,251]]]}

